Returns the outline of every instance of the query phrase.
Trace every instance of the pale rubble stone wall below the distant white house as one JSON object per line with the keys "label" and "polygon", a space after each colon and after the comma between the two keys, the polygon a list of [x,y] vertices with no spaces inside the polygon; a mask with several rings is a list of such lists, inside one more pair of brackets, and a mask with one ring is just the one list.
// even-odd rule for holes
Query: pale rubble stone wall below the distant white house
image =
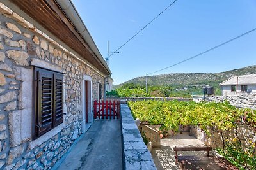
{"label": "pale rubble stone wall below the distant white house", "polygon": [[239,108],[252,108],[255,109],[256,106],[256,94],[237,94],[234,96],[214,96],[207,97],[206,101],[216,101],[223,102],[225,100],[229,101],[230,104],[237,106]]}

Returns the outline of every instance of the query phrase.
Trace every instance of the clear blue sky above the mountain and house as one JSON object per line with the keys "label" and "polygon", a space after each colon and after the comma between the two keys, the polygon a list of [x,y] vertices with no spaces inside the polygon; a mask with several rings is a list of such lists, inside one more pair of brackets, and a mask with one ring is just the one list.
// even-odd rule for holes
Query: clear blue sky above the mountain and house
{"label": "clear blue sky above the mountain and house", "polygon": [[[107,57],[173,1],[73,0],[100,53]],[[109,57],[114,84],[145,76],[256,27],[255,0],[178,0]],[[218,73],[256,64],[256,31],[151,74]]]}

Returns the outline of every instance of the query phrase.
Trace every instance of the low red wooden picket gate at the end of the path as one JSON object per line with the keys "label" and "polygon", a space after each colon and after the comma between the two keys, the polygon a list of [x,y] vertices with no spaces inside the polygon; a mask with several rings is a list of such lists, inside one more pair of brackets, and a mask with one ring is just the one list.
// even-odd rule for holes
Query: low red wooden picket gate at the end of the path
{"label": "low red wooden picket gate at the end of the path", "polygon": [[94,118],[120,118],[120,101],[94,101]]}

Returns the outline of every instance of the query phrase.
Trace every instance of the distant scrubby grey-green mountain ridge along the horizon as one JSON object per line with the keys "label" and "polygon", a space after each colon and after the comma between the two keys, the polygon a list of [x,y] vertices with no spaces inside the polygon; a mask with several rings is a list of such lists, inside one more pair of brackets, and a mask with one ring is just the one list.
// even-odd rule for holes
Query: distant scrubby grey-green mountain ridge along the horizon
{"label": "distant scrubby grey-green mountain ridge along the horizon", "polygon": [[[148,76],[148,85],[194,85],[221,83],[232,76],[256,74],[256,65],[241,69],[233,69],[220,73],[172,73],[161,74],[157,76]],[[145,76],[133,78],[115,87],[120,87],[125,83],[134,83],[136,85],[145,85]]]}

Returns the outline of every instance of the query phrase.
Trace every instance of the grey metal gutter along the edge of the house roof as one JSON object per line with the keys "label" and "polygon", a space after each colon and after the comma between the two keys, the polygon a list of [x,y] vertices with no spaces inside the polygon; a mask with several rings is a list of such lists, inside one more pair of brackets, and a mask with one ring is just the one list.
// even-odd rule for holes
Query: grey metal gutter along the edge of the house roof
{"label": "grey metal gutter along the edge of the house roof", "polygon": [[74,7],[74,4],[70,0],[56,0],[60,8],[64,11],[64,13],[67,15],[69,20],[74,24],[74,26],[77,29],[77,32],[81,34],[81,36],[84,38],[88,46],[92,49],[93,53],[97,56],[97,59],[100,60],[100,62],[103,64],[103,66],[108,70],[109,74],[111,74],[111,71],[106,64],[105,60],[103,59],[102,55],[99,52],[99,49],[95,45],[95,42],[92,39],[92,36],[88,32],[88,29],[83,23],[83,20],[79,16],[76,8]]}

